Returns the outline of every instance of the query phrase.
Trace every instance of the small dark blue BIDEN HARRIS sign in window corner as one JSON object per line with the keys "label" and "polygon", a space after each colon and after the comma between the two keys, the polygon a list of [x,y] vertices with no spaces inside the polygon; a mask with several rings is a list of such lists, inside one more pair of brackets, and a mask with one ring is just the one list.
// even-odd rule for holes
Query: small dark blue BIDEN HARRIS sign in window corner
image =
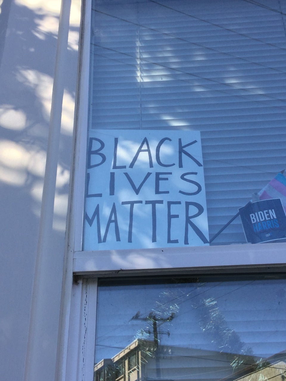
{"label": "small dark blue BIDEN HARRIS sign in window corner", "polygon": [[286,238],[286,215],[280,199],[252,202],[239,208],[239,213],[247,242]]}

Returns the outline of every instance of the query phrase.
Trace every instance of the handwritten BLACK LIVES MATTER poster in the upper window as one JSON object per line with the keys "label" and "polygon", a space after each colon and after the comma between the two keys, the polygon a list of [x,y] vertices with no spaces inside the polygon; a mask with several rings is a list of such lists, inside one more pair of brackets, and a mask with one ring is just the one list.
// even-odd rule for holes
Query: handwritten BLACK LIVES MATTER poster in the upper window
{"label": "handwritten BLACK LIVES MATTER poster in the upper window", "polygon": [[198,131],[88,137],[84,250],[209,245]]}

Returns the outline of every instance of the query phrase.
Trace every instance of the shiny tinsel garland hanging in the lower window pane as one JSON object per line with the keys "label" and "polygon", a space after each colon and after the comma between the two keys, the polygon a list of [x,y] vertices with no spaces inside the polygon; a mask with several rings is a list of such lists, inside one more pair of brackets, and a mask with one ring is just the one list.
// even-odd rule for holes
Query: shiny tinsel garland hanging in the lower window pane
{"label": "shiny tinsel garland hanging in the lower window pane", "polygon": [[[194,282],[197,282],[194,279]],[[198,311],[199,326],[214,344],[219,352],[225,352],[229,357],[233,371],[239,371],[245,366],[254,365],[255,369],[268,366],[268,362],[255,359],[251,347],[241,341],[238,333],[228,326],[223,313],[220,311],[215,298],[201,296],[200,286],[191,292],[185,292],[182,288],[165,290],[160,293],[156,306],[147,317],[140,318],[140,311],[132,317],[134,320],[146,321],[152,325],[153,332],[148,327],[138,330],[134,338],[147,339],[153,333],[155,348],[158,346],[159,338],[157,327],[162,323],[170,322],[180,310],[180,304],[191,300],[192,309]],[[161,332],[164,334],[164,332]],[[170,336],[169,330],[167,335]]]}

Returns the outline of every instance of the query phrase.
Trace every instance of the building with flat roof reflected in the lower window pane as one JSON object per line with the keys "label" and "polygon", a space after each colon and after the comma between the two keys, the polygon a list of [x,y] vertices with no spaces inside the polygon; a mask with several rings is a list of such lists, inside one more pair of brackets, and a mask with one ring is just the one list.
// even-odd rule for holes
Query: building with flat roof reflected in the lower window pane
{"label": "building with flat roof reflected in the lower window pane", "polygon": [[260,361],[240,355],[239,371],[235,372],[235,354],[175,346],[158,346],[156,350],[152,341],[137,339],[111,359],[98,362],[94,381],[284,381],[285,357],[283,352]]}

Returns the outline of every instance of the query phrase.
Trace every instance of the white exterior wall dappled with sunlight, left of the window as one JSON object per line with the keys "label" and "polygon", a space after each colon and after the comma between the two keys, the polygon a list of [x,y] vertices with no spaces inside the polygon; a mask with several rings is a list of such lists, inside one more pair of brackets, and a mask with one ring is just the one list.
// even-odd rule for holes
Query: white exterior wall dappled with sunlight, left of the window
{"label": "white exterior wall dappled with sunlight, left of the window", "polygon": [[[65,3],[65,2],[64,2]],[[28,338],[45,159],[61,2],[0,1],[0,379],[24,379],[35,359]],[[74,99],[77,84],[80,0],[72,0],[69,42],[64,62],[64,99],[51,234],[46,246],[45,278],[34,289],[42,301],[37,333],[41,363],[29,380],[54,380],[69,176],[72,160]],[[59,125],[56,125],[59,128]],[[39,250],[38,250],[39,253]],[[34,305],[34,304],[33,304]],[[27,347],[29,351],[27,352]],[[27,352],[27,353],[26,353]],[[28,373],[27,373],[28,372]],[[30,373],[31,374],[31,373]]]}

